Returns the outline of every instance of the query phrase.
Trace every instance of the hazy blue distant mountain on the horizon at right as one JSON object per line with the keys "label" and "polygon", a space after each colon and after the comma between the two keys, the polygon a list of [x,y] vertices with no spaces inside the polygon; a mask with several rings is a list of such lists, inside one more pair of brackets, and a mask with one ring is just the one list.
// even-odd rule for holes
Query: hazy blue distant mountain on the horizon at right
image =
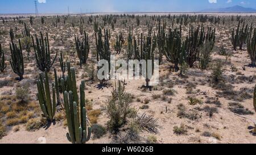
{"label": "hazy blue distant mountain on the horizon at right", "polygon": [[250,7],[242,7],[242,6],[232,6],[218,9],[205,9],[200,12],[256,12],[256,9]]}

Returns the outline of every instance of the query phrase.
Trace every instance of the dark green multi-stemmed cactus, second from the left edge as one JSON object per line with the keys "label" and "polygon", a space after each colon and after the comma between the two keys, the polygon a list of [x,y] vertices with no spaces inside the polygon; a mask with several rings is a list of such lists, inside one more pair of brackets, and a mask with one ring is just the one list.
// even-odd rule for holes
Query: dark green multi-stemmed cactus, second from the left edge
{"label": "dark green multi-stemmed cactus, second from the left edge", "polygon": [[19,76],[19,80],[23,79],[24,74],[24,61],[23,61],[23,54],[22,54],[22,47],[19,40],[19,48],[17,45],[11,41],[10,43],[10,50],[11,50],[11,68],[13,72]]}

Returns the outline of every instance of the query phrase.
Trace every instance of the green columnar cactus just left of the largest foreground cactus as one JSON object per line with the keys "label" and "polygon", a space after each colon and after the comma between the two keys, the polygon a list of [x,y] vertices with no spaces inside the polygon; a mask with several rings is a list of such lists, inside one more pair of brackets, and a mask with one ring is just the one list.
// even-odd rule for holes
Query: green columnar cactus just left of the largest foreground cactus
{"label": "green columnar cactus just left of the largest foreground cactus", "polygon": [[47,71],[44,72],[44,78],[43,75],[40,74],[40,79],[36,81],[36,84],[38,86],[38,100],[44,116],[47,118],[48,121],[52,122],[56,111],[55,85],[54,83],[52,83],[51,99],[51,91],[49,89],[49,79]]}

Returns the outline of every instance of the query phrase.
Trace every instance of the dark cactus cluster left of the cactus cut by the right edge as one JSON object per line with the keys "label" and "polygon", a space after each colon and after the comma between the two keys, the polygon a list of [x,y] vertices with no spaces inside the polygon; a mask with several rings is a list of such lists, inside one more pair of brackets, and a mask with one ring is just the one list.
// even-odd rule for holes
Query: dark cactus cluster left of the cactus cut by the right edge
{"label": "dark cactus cluster left of the cactus cut by the right edge", "polygon": [[247,37],[249,36],[249,26],[248,24],[245,26],[245,22],[243,22],[242,28],[240,28],[241,20],[238,23],[237,30],[235,32],[234,28],[232,30],[232,45],[233,49],[236,51],[237,47],[242,50],[243,44],[246,43]]}

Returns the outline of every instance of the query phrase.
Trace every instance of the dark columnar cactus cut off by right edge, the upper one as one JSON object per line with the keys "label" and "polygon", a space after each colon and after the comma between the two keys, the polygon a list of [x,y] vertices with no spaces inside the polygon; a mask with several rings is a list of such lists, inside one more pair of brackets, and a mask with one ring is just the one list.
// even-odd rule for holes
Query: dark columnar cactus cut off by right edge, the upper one
{"label": "dark columnar cactus cut off by right edge, the upper one", "polygon": [[250,35],[247,40],[247,52],[250,55],[251,58],[251,65],[255,66],[256,62],[256,28],[254,28],[253,32],[253,26],[250,28]]}

